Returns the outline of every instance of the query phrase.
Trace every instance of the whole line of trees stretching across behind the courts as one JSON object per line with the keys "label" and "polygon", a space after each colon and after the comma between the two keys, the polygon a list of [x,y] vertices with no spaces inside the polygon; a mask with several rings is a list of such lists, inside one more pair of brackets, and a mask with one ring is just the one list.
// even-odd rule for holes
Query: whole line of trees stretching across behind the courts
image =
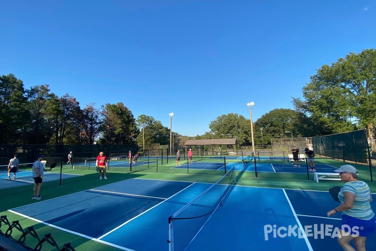
{"label": "whole line of trees stretching across behind the courts", "polygon": [[[376,123],[376,50],[349,53],[332,65],[323,65],[302,88],[303,99],[292,97],[293,109],[276,108],[254,123],[255,145],[271,138],[312,137]],[[211,131],[193,137],[173,132],[174,147],[190,138],[236,137],[252,145],[250,121],[229,113],[209,123]],[[0,144],[111,144],[147,149],[152,143],[169,145],[170,130],[142,114],[135,118],[124,103],[81,108],[76,98],[58,97],[49,85],[25,89],[13,74],[0,76]],[[374,135],[373,135],[374,137]]]}

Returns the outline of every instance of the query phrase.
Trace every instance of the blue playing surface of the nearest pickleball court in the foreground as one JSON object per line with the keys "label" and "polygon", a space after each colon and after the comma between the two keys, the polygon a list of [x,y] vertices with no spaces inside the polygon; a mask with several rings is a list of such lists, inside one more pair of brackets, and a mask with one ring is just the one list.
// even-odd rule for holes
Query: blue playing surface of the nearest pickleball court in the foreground
{"label": "blue playing surface of the nearest pickleball court in the foreground", "polygon": [[[9,211],[122,250],[165,251],[168,217],[211,185],[132,178]],[[341,214],[326,217],[339,205],[328,192],[231,186],[222,204],[186,250],[343,250],[333,238]],[[376,233],[366,245],[376,250]]]}

